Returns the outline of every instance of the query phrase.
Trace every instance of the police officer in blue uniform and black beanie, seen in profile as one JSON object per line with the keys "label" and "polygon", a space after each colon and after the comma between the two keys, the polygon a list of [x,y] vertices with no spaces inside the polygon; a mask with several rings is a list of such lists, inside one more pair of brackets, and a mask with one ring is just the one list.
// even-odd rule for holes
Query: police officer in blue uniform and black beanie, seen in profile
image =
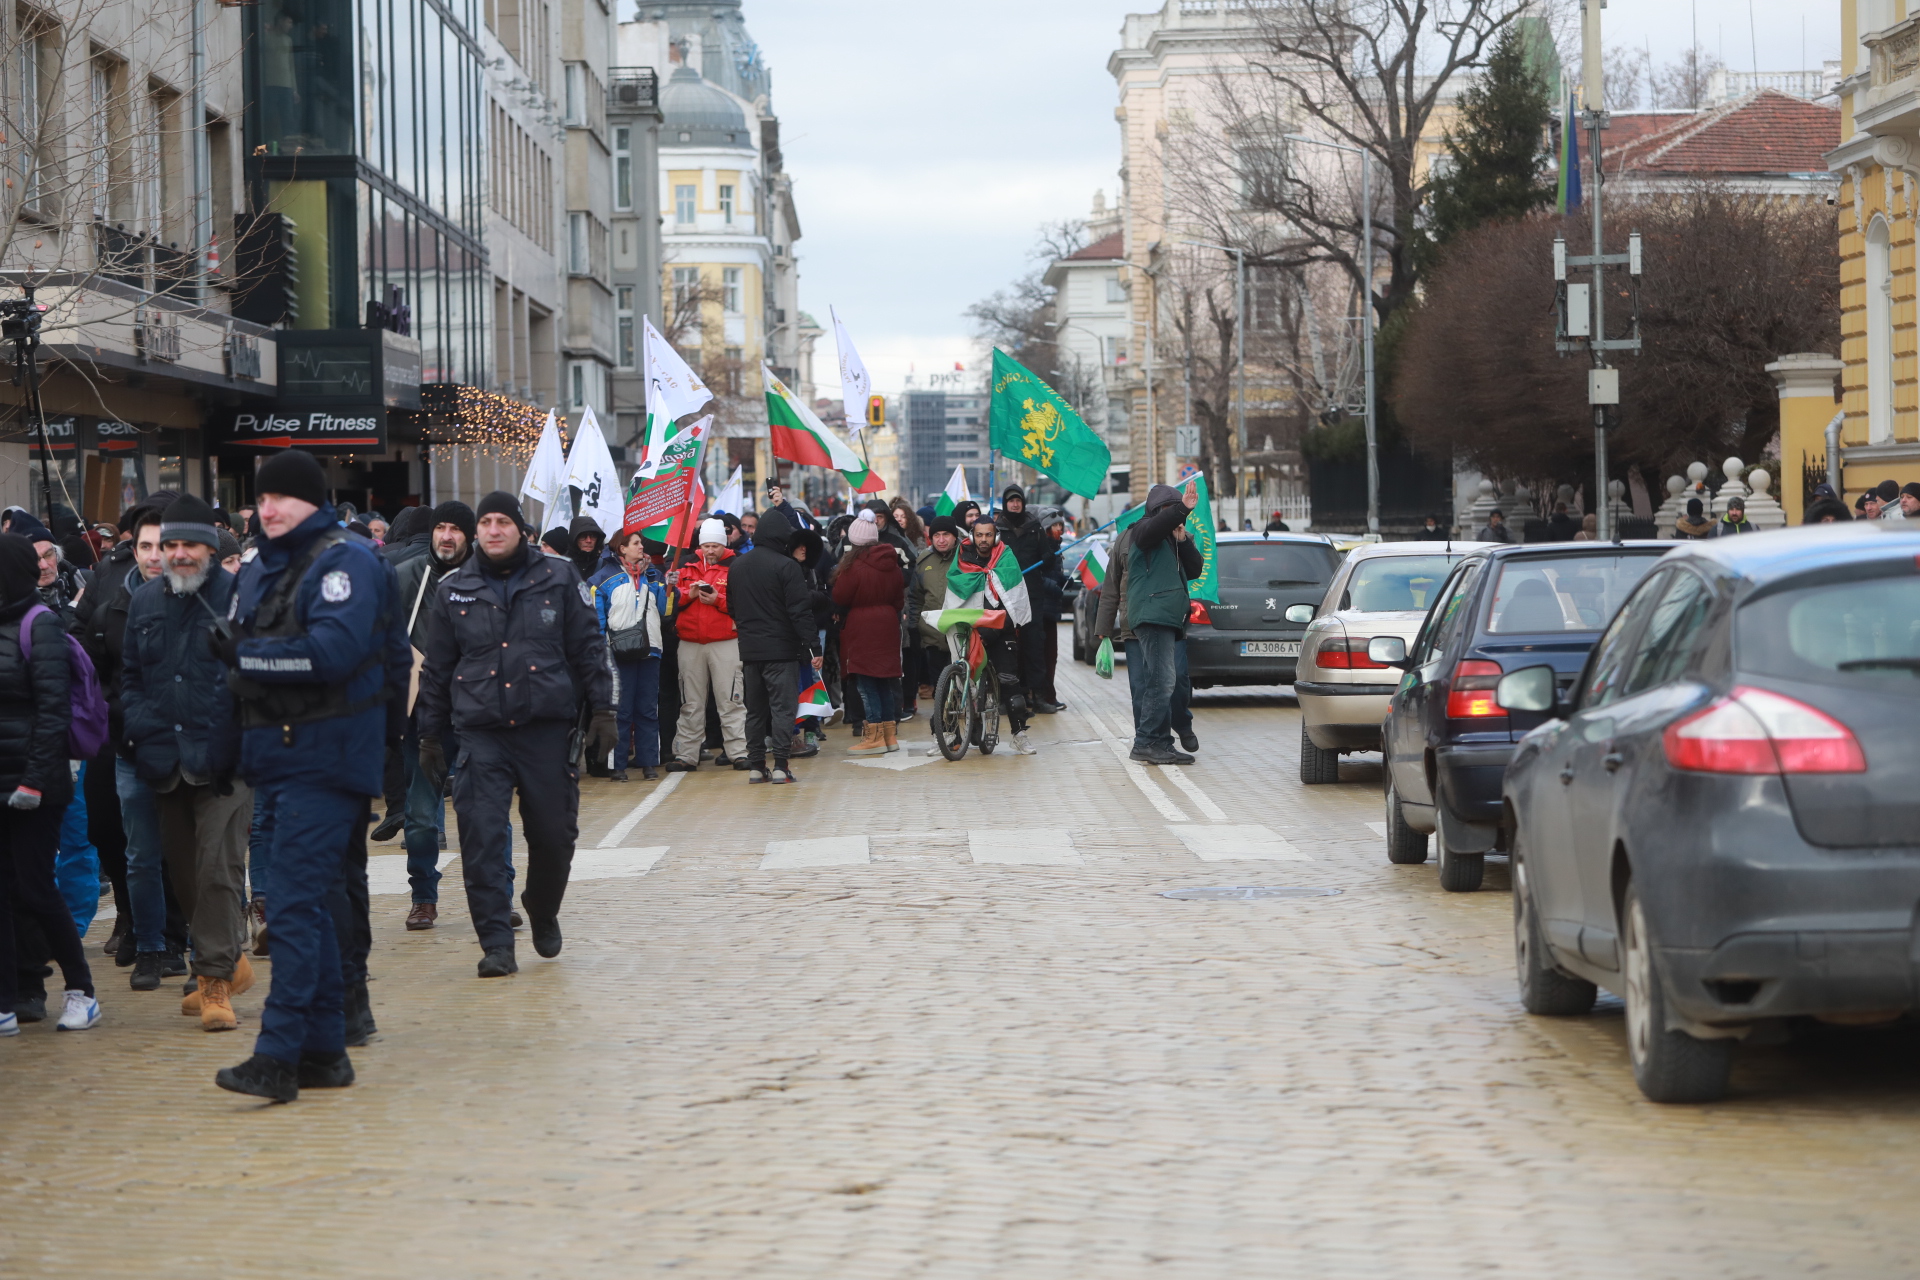
{"label": "police officer in blue uniform and black beanie, seen in profile", "polygon": [[411,660],[394,570],[334,520],[313,455],[261,462],[255,491],[265,543],[240,570],[215,647],[234,668],[240,773],[273,812],[263,887],[273,986],[253,1057],[213,1080],[292,1102],[301,1088],[353,1082],[328,892],[353,823],[380,794],[386,704]]}

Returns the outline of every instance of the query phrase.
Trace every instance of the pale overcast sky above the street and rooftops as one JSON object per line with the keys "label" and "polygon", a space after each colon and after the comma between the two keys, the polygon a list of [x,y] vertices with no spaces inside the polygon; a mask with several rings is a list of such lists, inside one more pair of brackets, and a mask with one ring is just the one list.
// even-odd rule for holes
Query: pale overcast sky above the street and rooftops
{"label": "pale overcast sky above the street and rooftops", "polygon": [[[1041,223],[1119,188],[1110,0],[747,0],[804,236],[801,305],[831,303],[893,393],[972,361],[966,307],[1027,271]],[[1697,19],[1695,19],[1697,13]],[[1751,13],[1751,35],[1749,35]],[[1834,0],[1611,0],[1607,44],[1653,63],[1699,42],[1736,71],[1839,56]],[[1805,46],[1803,46],[1805,31]],[[1805,52],[1803,52],[1805,50]],[[833,338],[814,376],[831,395]]]}

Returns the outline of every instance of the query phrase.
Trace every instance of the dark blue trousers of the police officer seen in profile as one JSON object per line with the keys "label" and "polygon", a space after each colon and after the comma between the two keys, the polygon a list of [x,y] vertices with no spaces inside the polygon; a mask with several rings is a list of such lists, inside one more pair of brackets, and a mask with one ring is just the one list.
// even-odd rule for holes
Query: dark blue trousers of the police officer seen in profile
{"label": "dark blue trousers of the police officer seen in profile", "polygon": [[265,867],[273,986],[253,1052],[298,1063],[301,1050],[338,1054],[346,1048],[340,938],[328,894],[340,879],[353,823],[367,814],[367,796],[309,783],[263,791],[273,810]]}

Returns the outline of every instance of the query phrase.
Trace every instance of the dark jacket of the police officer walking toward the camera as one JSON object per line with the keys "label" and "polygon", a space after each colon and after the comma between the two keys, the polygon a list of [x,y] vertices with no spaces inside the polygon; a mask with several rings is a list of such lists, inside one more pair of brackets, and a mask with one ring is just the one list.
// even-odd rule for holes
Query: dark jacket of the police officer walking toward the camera
{"label": "dark jacket of the police officer walking toward the camera", "polygon": [[[428,589],[426,666],[420,670],[420,735],[447,725],[516,729],[574,720],[580,704],[612,706],[612,674],[599,618],[574,566],[522,543],[526,560],[507,580],[467,560]],[[799,566],[795,566],[799,568]],[[505,597],[505,606],[501,599]],[[413,606],[413,601],[407,601]]]}

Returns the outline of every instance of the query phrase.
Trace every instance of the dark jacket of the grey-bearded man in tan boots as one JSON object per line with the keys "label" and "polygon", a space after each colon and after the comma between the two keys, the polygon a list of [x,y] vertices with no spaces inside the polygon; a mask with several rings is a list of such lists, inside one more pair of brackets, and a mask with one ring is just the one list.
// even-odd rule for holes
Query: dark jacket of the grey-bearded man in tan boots
{"label": "dark jacket of the grey-bearded man in tan boots", "polygon": [[234,576],[219,564],[198,599],[175,595],[165,576],[132,593],[119,685],[134,770],[150,783],[175,770],[211,783],[240,766],[234,695],[209,643],[213,618],[227,616],[232,597]]}

